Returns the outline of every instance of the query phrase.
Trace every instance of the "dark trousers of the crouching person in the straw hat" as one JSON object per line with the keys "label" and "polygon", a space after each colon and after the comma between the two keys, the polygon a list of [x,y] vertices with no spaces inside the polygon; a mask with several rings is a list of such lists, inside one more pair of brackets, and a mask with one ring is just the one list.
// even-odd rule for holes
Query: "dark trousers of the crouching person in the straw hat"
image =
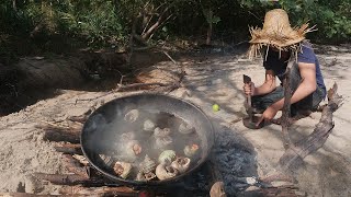
{"label": "dark trousers of the crouching person in the straw hat", "polygon": [[[296,91],[297,86],[302,82],[298,66],[295,62],[291,69],[290,84],[293,92]],[[273,92],[264,95],[252,96],[253,112],[263,113],[273,103],[284,97],[283,84],[278,86]],[[291,116],[295,116],[299,111],[315,111],[318,104],[324,100],[322,89],[317,85],[314,93],[303,99],[302,101],[292,104]]]}

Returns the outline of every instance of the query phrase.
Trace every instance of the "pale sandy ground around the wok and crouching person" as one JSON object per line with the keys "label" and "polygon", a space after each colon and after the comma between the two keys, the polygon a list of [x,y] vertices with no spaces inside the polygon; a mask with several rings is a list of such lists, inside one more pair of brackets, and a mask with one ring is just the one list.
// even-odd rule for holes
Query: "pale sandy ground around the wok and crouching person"
{"label": "pale sandy ground around the wok and crouching person", "polygon": [[[339,94],[344,104],[333,115],[335,128],[328,140],[317,152],[308,155],[303,165],[294,171],[298,187],[308,196],[351,196],[351,50],[343,47],[322,47],[317,50],[327,89],[339,84]],[[279,169],[279,159],[284,153],[281,127],[270,125],[250,130],[242,126],[245,116],[242,74],[248,74],[259,84],[264,79],[260,60],[249,61],[245,55],[199,55],[196,58],[179,60],[185,66],[188,76],[183,88],[171,94],[188,100],[201,107],[216,128],[217,143],[223,143],[228,134],[234,140],[251,147],[254,162],[250,171],[241,175],[265,176]],[[158,67],[179,69],[172,62],[160,62]],[[53,144],[43,140],[43,131],[34,126],[41,121],[65,120],[68,116],[81,115],[91,106],[99,106],[126,93],[115,93],[91,102],[77,103],[77,99],[90,99],[102,93],[61,91],[53,99],[41,101],[25,109],[0,118],[0,193],[24,192],[29,175],[34,172],[64,172],[60,153]],[[217,103],[220,111],[214,113]],[[318,123],[320,113],[295,123],[290,135],[294,140],[306,137]],[[252,166],[256,166],[252,169]],[[254,171],[254,172],[252,172]],[[35,192],[57,194],[57,187],[46,184]]]}

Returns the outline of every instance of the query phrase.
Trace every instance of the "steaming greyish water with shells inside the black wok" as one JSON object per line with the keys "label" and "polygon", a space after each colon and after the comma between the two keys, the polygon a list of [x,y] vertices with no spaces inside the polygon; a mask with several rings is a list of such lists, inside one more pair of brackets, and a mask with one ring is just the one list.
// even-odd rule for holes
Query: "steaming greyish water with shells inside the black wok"
{"label": "steaming greyish water with shells inside the black wok", "polygon": [[[121,178],[161,179],[158,176],[148,177],[145,173],[140,174],[140,171],[152,165],[150,173],[155,174],[156,167],[160,165],[159,158],[163,151],[166,153],[163,152],[162,155],[171,151],[176,153],[172,161],[166,164],[168,166],[171,166],[171,162],[174,162],[177,158],[190,159],[189,169],[201,160],[202,142],[195,128],[172,114],[134,108],[118,114],[110,123],[103,117],[100,118],[99,125],[103,127],[101,132],[94,135],[93,138],[103,143],[94,148],[95,160],[104,171]],[[126,169],[131,171],[122,174]],[[177,175],[180,174],[181,172],[177,173]],[[143,175],[148,178],[145,179]]]}

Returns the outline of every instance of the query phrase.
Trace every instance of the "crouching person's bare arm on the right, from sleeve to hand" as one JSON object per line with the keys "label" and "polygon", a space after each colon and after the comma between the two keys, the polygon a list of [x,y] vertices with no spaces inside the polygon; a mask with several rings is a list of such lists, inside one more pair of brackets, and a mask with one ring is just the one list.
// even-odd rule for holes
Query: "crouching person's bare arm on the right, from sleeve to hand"
{"label": "crouching person's bare arm on the right, from sleeve to hand", "polygon": [[[304,63],[298,62],[299,74],[302,77],[302,83],[298,85],[296,91],[294,92],[291,104],[294,104],[309,94],[312,94],[317,89],[316,83],[316,65],[315,63]],[[284,105],[284,99],[275,102],[271,106],[269,106],[264,113],[258,125],[263,120],[271,120],[276,115],[278,111],[282,109]]]}

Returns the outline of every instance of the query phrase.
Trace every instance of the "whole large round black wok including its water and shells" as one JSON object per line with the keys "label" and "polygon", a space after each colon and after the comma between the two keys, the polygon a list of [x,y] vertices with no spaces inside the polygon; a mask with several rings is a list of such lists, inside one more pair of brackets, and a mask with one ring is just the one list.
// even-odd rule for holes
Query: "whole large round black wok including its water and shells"
{"label": "whole large round black wok including its water and shells", "polygon": [[178,182],[199,169],[214,143],[210,119],[195,105],[169,95],[113,100],[88,118],[81,132],[90,164],[123,185]]}

